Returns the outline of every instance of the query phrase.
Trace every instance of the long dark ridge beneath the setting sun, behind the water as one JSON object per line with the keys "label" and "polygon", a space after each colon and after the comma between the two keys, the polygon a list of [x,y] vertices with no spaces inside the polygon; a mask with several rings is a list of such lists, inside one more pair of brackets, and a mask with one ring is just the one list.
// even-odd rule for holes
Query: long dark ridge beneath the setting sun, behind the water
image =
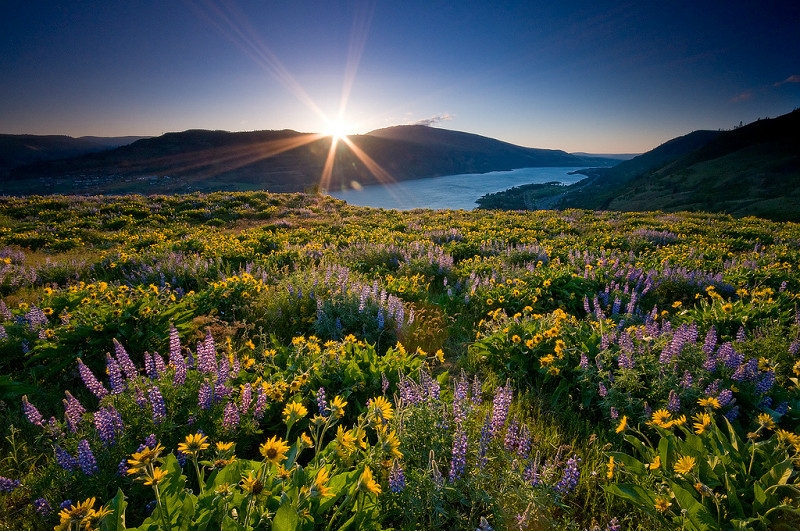
{"label": "long dark ridge beneath the setting sun, behind the water", "polygon": [[[391,127],[353,135],[349,140],[385,173],[376,177],[368,164],[340,142],[328,189],[346,188],[354,181],[377,183],[387,173],[402,181],[536,166],[610,166],[617,162],[427,126]],[[7,172],[0,193],[303,191],[320,185],[329,151],[330,138],[290,130],[189,130],[16,167]]]}

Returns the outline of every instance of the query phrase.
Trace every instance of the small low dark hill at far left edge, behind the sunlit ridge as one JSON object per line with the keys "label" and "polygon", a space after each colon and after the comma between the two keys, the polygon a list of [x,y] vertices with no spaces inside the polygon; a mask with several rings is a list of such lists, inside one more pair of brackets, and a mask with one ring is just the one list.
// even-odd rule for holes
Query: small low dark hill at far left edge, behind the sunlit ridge
{"label": "small low dark hill at far left edge, behind the sunlit ridge", "polygon": [[73,138],[64,135],[0,134],[0,175],[26,164],[77,157],[130,144],[140,138],[143,137],[84,136]]}

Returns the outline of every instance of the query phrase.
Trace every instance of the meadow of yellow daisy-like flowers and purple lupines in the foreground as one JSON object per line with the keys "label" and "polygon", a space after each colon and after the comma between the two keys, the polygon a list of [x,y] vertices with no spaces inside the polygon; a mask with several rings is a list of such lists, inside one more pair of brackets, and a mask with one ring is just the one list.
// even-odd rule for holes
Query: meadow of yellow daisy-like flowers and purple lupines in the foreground
{"label": "meadow of yellow daisy-like flowers and purple lupines in the foreground", "polygon": [[800,225],[0,202],[0,529],[800,527]]}

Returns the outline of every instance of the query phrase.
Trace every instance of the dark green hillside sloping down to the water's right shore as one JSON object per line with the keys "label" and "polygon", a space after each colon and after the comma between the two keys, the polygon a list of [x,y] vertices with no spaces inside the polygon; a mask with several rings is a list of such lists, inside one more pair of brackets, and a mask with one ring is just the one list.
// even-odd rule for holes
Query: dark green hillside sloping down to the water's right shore
{"label": "dark green hillside sloping down to the water's right shore", "polygon": [[800,221],[800,109],[732,131],[695,131],[569,187],[529,186],[484,208],[727,212]]}

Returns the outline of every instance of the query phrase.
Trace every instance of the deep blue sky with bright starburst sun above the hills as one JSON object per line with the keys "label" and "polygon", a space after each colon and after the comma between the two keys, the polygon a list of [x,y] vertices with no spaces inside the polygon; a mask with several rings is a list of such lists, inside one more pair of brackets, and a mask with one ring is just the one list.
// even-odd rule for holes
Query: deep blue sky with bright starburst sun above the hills
{"label": "deep blue sky with bright starburst sun above the hills", "polygon": [[11,0],[3,12],[2,133],[422,122],[634,153],[800,107],[798,2]]}

